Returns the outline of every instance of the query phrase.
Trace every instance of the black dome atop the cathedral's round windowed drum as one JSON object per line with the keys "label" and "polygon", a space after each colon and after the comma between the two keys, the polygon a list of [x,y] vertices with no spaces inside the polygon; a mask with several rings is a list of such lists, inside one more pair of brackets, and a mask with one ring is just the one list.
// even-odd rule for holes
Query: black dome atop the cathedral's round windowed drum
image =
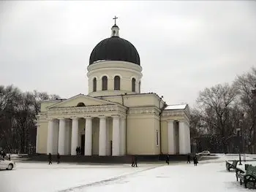
{"label": "black dome atop the cathedral's round windowed drum", "polygon": [[140,65],[140,55],[135,46],[120,37],[104,39],[94,47],[90,56],[90,65],[99,60],[128,61]]}

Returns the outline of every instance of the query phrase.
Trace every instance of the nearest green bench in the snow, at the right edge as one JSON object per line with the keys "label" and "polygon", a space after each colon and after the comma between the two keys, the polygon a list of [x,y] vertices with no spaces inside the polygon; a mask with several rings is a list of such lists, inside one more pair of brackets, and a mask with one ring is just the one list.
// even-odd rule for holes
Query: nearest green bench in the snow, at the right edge
{"label": "nearest green bench in the snow, at the right edge", "polygon": [[248,166],[246,173],[238,172],[238,176],[240,179],[240,185],[244,183],[244,187],[247,188],[247,183],[253,183],[255,187],[256,184],[256,166]]}

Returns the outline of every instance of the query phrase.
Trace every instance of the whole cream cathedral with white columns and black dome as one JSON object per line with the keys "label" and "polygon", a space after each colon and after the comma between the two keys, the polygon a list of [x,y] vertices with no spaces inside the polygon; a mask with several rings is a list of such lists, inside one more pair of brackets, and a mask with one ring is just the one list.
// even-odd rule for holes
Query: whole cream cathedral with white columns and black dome
{"label": "whole cream cathedral with white columns and black dome", "polygon": [[188,105],[140,92],[140,56],[116,23],[92,50],[87,70],[88,95],[41,102],[37,153],[76,155],[77,147],[89,156],[190,153]]}

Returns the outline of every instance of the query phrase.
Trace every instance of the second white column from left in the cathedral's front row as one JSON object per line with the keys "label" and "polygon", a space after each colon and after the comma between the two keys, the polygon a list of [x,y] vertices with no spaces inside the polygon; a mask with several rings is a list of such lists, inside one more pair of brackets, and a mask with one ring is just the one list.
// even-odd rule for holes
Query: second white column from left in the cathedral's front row
{"label": "second white column from left in the cathedral's front row", "polygon": [[59,155],[64,155],[65,153],[65,119],[59,119],[59,141],[58,141],[58,153]]}

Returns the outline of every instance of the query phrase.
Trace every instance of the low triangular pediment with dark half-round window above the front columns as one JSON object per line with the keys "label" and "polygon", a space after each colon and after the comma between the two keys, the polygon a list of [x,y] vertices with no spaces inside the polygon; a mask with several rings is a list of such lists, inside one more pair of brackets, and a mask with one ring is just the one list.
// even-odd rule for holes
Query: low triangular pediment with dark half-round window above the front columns
{"label": "low triangular pediment with dark half-round window above the front columns", "polygon": [[[58,104],[53,104],[49,106],[48,109],[60,108],[60,107],[78,107],[78,105],[80,104],[84,104],[85,106],[95,106],[95,105],[110,105],[115,103],[112,103],[110,101],[105,101],[102,99],[97,99],[91,96],[79,94],[67,100],[61,101]],[[83,107],[83,106],[80,106],[80,107]]]}

